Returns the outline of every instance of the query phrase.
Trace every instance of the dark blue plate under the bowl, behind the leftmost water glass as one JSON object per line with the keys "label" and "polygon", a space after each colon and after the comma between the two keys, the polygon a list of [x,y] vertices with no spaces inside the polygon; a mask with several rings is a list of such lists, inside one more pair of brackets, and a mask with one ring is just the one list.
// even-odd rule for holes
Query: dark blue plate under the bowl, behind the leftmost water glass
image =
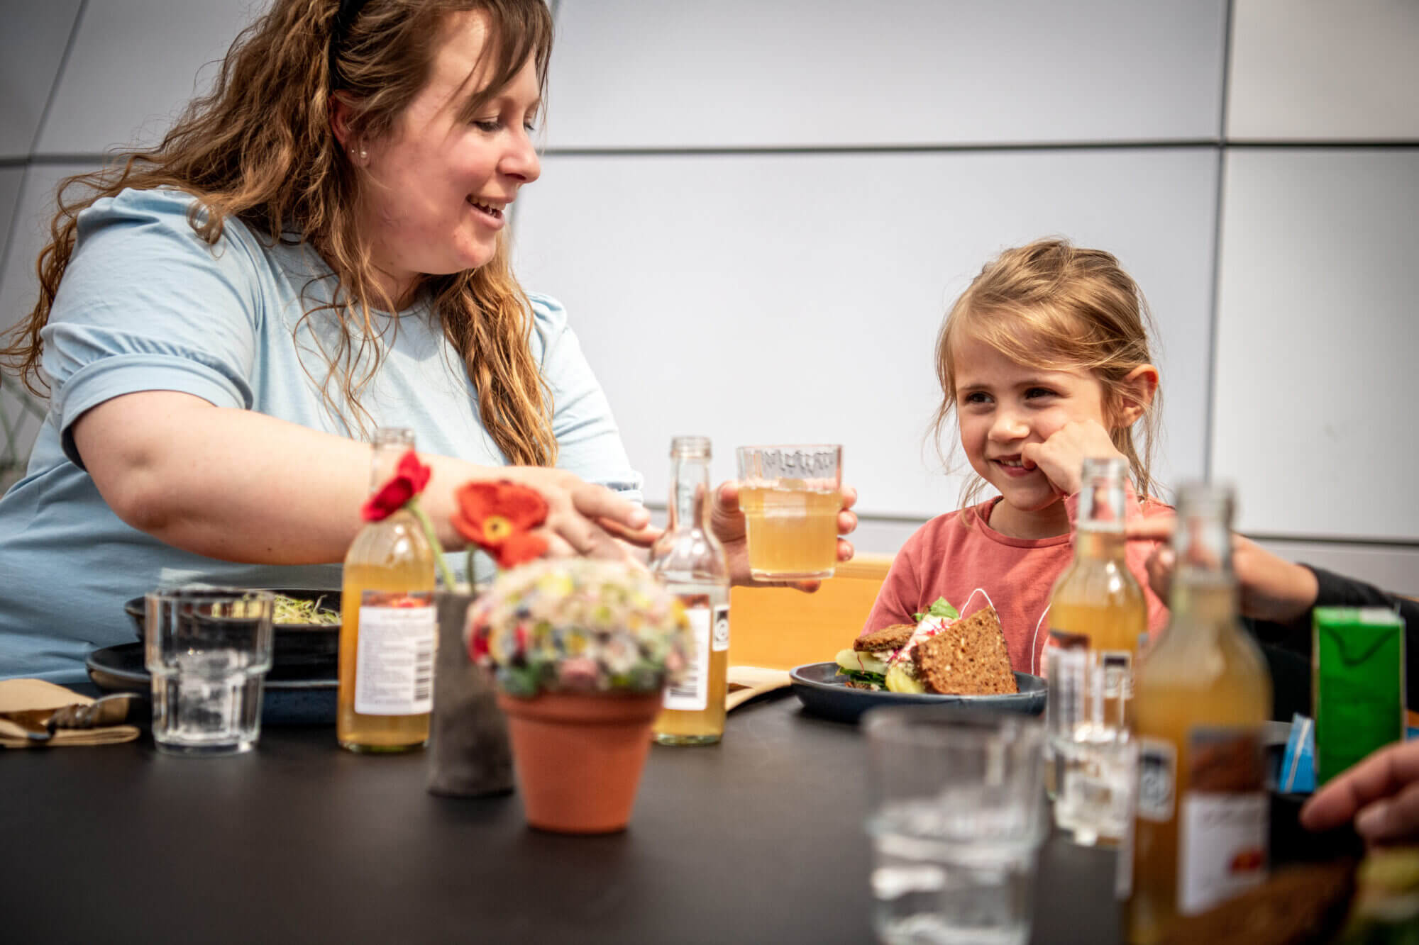
{"label": "dark blue plate under the bowl, behind the leftmost water glass", "polygon": [[[84,661],[94,685],[105,692],[150,692],[143,644],[122,643],[95,650]],[[318,665],[272,667],[261,690],[263,725],[333,725],[333,661]]]}

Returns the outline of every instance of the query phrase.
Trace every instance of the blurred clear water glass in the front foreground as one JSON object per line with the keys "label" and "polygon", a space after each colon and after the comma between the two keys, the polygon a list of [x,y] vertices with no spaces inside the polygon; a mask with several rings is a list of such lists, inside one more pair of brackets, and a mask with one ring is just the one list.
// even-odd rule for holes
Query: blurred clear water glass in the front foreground
{"label": "blurred clear water glass in the front foreground", "polygon": [[1040,721],[920,705],[864,726],[878,941],[1023,945],[1049,831]]}

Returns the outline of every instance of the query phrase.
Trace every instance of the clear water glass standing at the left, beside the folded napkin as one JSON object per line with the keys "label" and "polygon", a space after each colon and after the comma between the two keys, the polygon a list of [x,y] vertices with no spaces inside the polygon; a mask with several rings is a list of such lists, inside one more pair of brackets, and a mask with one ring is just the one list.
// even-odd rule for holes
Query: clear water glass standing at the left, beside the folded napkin
{"label": "clear water glass standing at the left, beside the folded napkin", "polygon": [[255,746],[274,602],[270,590],[233,587],[148,595],[143,660],[159,751],[234,755]]}

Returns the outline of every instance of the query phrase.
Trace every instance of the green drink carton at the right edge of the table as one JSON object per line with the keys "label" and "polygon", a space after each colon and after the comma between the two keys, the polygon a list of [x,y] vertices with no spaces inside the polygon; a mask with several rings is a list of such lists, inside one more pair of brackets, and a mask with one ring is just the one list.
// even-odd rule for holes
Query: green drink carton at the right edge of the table
{"label": "green drink carton at the right edge of the table", "polygon": [[1315,607],[1315,785],[1405,736],[1405,621],[1384,607]]}

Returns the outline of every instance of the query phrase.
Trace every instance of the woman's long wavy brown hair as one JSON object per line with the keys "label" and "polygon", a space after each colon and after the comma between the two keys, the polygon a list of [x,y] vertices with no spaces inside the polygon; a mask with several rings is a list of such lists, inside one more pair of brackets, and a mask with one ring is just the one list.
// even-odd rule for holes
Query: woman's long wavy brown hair
{"label": "woman's long wavy brown hair", "polygon": [[[173,187],[196,197],[189,223],[209,244],[234,217],[271,245],[308,241],[329,264],[333,301],[302,318],[329,309],[339,328],[333,349],[321,352],[326,372],[316,383],[346,431],[369,433],[359,394],[383,359],[370,341],[377,338],[370,311],[392,311],[396,302],[379,288],[356,230],[356,167],[332,131],[332,101],[350,105],[355,139],[392,133],[429,81],[448,14],[464,10],[487,17],[477,67],[487,82],[461,118],[475,118],[529,57],[545,92],[552,16],[542,0],[368,0],[336,28],[339,9],[339,0],[277,0],[241,31],[211,92],[189,104],[158,148],[121,152],[109,167],[60,184],[58,214],[37,264],[40,299],[0,349],[0,365],[17,369],[31,393],[47,387],[40,331],[74,253],[79,211],[128,187]],[[72,200],[65,199],[71,187],[81,190]],[[429,275],[419,288],[461,356],[482,424],[507,460],[552,465],[552,396],[532,358],[531,304],[512,277],[505,237],[487,265]]]}

